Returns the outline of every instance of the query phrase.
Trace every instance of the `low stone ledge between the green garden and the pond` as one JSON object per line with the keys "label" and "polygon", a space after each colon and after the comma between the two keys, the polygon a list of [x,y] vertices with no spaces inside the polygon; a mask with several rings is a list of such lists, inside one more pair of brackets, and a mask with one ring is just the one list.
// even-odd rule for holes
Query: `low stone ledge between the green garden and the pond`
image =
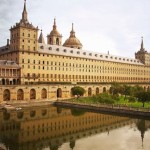
{"label": "low stone ledge between the green garden and the pond", "polygon": [[55,106],[79,108],[94,112],[114,113],[118,115],[131,115],[133,117],[150,117],[150,109],[144,108],[131,108],[116,105],[104,105],[104,104],[86,104],[69,101],[55,101]]}

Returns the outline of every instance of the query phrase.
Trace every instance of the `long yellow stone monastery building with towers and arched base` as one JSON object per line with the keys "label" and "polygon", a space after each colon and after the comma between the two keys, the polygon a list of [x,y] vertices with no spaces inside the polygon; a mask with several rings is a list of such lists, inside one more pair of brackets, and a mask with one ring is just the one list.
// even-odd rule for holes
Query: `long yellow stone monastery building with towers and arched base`
{"label": "long yellow stone monastery building with towers and arched base", "polygon": [[[147,61],[141,60],[144,57],[141,56],[144,52],[143,40],[142,53],[136,53],[136,59],[133,59],[82,50],[73,26],[70,38],[66,40],[69,42],[62,46],[62,35],[57,31],[56,20],[47,38],[48,44],[45,44],[41,32],[38,40],[38,28],[28,21],[25,1],[22,19],[10,29],[10,44],[0,47],[0,60],[13,61],[18,65],[16,78],[20,85],[2,86],[1,101],[67,98],[71,96],[71,88],[75,85],[84,87],[86,91],[91,88],[92,94],[95,94],[97,87],[101,92],[105,85],[109,89],[112,82],[150,87],[149,53],[144,55]],[[9,84],[12,84],[11,81],[13,77]],[[6,82],[1,84],[6,85]],[[61,92],[58,94],[59,86]],[[41,96],[41,91],[47,96]],[[22,93],[24,96],[21,96]],[[90,95],[87,93],[85,96]]]}

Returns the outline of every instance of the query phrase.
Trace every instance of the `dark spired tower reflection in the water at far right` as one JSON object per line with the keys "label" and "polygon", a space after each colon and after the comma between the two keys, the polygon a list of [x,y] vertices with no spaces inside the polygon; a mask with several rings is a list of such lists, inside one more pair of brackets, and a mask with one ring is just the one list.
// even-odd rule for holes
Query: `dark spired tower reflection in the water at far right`
{"label": "dark spired tower reflection in the water at far right", "polygon": [[147,131],[147,127],[145,125],[145,120],[140,119],[137,122],[137,128],[141,132],[141,139],[142,139],[142,148],[144,147],[144,134]]}

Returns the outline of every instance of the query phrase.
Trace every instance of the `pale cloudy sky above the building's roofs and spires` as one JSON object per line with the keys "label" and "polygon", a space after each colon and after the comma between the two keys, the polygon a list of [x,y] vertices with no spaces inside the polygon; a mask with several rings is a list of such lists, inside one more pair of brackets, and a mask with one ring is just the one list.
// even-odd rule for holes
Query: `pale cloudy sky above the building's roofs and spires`
{"label": "pale cloudy sky above the building's roofs and spires", "polygon": [[[0,46],[19,22],[24,0],[0,0]],[[47,34],[56,18],[63,43],[74,23],[84,50],[134,57],[141,37],[150,52],[150,0],[27,0],[28,20]],[[39,32],[40,33],[40,32]]]}

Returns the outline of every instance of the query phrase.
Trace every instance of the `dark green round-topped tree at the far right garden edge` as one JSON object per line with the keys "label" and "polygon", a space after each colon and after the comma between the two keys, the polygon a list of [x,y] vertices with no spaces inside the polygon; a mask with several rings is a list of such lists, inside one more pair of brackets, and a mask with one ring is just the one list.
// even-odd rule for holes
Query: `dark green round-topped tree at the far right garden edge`
{"label": "dark green round-topped tree at the far right garden edge", "polygon": [[145,102],[150,101],[150,92],[140,91],[136,94],[136,98],[139,102],[143,103],[143,107],[145,105]]}

